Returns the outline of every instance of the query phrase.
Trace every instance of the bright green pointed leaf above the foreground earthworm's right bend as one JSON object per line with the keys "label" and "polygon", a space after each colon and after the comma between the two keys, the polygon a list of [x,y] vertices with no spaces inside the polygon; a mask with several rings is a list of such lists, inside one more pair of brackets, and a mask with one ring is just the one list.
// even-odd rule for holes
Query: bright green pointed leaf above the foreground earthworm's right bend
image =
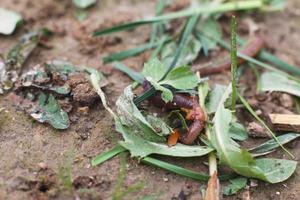
{"label": "bright green pointed leaf above the foreground earthworm's right bend", "polygon": [[195,88],[198,85],[198,78],[189,67],[181,66],[170,71],[166,78],[159,83],[186,90]]}

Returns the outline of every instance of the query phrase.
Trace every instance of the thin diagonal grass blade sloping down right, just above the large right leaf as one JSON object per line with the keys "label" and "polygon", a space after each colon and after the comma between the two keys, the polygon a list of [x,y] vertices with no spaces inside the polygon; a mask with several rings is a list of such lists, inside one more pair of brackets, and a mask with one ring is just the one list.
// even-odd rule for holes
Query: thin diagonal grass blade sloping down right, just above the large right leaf
{"label": "thin diagonal grass blade sloping down right, just above the large right leaf", "polygon": [[245,106],[245,108],[248,110],[248,112],[261,124],[263,125],[266,130],[272,135],[272,137],[274,138],[274,140],[276,141],[276,143],[291,157],[294,158],[294,155],[289,152],[284,146],[282,146],[282,144],[280,143],[280,141],[278,140],[278,138],[276,137],[276,135],[273,133],[273,131],[271,131],[271,129],[266,125],[266,123],[255,113],[255,111],[251,108],[251,106],[248,104],[248,102],[246,101],[246,99],[244,99],[244,97],[242,95],[240,95],[239,93],[237,93],[239,99],[241,100],[241,102],[243,103],[243,105]]}

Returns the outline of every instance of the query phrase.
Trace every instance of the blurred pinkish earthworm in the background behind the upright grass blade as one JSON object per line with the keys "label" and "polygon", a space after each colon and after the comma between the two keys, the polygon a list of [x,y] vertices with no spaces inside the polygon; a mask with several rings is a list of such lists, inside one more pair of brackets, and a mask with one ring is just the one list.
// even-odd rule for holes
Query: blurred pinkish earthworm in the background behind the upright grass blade
{"label": "blurred pinkish earthworm in the background behind the upright grass blade", "polygon": [[[249,57],[254,57],[263,48],[263,46],[264,46],[263,39],[261,37],[256,36],[246,44],[246,46],[240,51],[240,53]],[[238,58],[239,65],[245,62],[246,60],[244,60],[243,58]],[[202,76],[207,76],[211,74],[217,74],[225,70],[229,70],[230,66],[231,66],[231,59],[227,58],[225,59],[225,61],[212,63],[207,67],[194,66],[192,70],[199,71]]]}

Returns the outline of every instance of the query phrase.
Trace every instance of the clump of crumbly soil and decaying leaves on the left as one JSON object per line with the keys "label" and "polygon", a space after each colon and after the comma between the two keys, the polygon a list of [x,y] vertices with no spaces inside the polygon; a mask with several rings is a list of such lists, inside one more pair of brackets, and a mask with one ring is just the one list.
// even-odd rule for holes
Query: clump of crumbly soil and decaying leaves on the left
{"label": "clump of crumbly soil and decaying leaves on the left", "polygon": [[[102,76],[102,86],[106,84]],[[99,99],[85,69],[73,64],[53,60],[35,66],[23,74],[16,83],[19,106],[41,123],[49,123],[56,129],[69,127],[73,106],[91,106]]]}

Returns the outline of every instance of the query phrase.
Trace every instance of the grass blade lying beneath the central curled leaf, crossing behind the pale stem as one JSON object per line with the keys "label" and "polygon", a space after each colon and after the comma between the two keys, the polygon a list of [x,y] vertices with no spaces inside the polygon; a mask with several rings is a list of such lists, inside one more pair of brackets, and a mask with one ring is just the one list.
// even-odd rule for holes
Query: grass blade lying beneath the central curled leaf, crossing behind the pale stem
{"label": "grass blade lying beneath the central curled leaf, crossing behind the pale stem", "polygon": [[[152,157],[145,157],[142,159],[142,162],[145,164],[153,165],[153,166],[168,170],[170,172],[179,174],[181,176],[185,176],[185,177],[197,180],[197,181],[205,181],[206,182],[209,179],[208,175],[199,174],[198,172],[195,172],[195,171],[192,171],[189,169],[185,169],[183,167],[179,167],[177,165],[173,165],[173,164],[170,164],[170,163],[167,163],[167,162],[164,162],[164,161],[152,158]],[[236,176],[236,174],[221,175],[221,176],[219,176],[219,179],[225,181],[225,180],[229,180],[235,176]]]}

